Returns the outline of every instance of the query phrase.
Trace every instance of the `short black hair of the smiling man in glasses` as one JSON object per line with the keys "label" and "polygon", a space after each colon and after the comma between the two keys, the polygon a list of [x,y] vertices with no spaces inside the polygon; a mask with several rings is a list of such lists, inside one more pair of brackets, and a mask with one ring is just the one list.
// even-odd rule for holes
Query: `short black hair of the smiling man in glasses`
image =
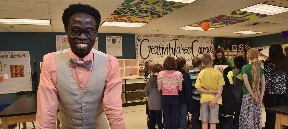
{"label": "short black hair of the smiling man in glasses", "polygon": [[67,29],[68,28],[68,23],[69,19],[73,14],[76,13],[86,13],[88,15],[91,15],[94,17],[96,21],[96,30],[98,31],[99,25],[101,22],[101,15],[97,9],[94,7],[91,7],[90,5],[82,4],[82,3],[77,3],[73,5],[69,5],[68,8],[64,9],[63,15],[62,15],[62,22],[64,24],[64,27]]}

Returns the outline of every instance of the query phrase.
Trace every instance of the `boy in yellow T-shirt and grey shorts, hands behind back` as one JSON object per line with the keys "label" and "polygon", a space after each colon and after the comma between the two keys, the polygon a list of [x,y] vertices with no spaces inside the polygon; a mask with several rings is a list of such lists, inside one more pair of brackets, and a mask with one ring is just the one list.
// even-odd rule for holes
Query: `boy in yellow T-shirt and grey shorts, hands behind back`
{"label": "boy in yellow T-shirt and grey shorts, hands behind back", "polygon": [[225,81],[223,75],[212,66],[213,59],[208,53],[201,57],[205,69],[203,69],[196,80],[195,88],[200,92],[200,118],[202,120],[202,129],[216,129],[216,123],[219,123],[219,104],[222,104],[221,93]]}

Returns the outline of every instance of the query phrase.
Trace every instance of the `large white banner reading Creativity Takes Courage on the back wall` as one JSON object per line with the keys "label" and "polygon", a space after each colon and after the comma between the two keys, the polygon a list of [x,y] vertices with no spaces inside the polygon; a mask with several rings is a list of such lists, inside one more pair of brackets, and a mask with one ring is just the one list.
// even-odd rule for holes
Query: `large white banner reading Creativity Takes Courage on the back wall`
{"label": "large white banner reading Creativity Takes Courage on the back wall", "polygon": [[183,57],[192,66],[192,59],[204,53],[213,56],[214,37],[135,34],[136,58],[139,63],[151,60],[163,64],[166,56]]}

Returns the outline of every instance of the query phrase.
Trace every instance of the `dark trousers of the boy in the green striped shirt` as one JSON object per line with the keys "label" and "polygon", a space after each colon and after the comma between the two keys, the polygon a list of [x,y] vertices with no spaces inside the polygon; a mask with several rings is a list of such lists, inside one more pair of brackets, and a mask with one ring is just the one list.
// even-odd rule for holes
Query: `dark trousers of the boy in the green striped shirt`
{"label": "dark trousers of the boy in the green striped shirt", "polygon": [[199,129],[199,106],[200,106],[200,101],[199,100],[192,100],[192,118],[191,118],[191,121],[192,121],[192,128],[193,129]]}

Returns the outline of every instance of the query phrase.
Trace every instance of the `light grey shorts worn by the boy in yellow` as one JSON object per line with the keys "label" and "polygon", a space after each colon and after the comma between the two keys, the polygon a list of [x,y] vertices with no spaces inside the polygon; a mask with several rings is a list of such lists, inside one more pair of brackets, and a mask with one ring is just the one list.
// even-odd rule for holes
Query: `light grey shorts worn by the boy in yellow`
{"label": "light grey shorts worn by the boy in yellow", "polygon": [[215,107],[209,106],[211,101],[200,103],[200,118],[202,122],[206,123],[219,123],[219,104],[216,103]]}

